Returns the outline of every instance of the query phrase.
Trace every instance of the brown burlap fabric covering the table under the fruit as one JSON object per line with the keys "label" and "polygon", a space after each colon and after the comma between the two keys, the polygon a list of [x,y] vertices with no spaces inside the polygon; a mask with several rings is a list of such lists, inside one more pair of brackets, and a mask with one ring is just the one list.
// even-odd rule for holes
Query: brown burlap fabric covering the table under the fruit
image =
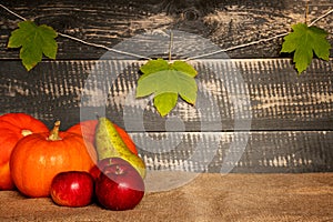
{"label": "brown burlap fabric covering the table under the fruit", "polygon": [[[165,175],[172,176],[174,175]],[[147,193],[130,211],[56,205],[0,192],[0,221],[333,221],[333,173],[200,174],[178,189]]]}

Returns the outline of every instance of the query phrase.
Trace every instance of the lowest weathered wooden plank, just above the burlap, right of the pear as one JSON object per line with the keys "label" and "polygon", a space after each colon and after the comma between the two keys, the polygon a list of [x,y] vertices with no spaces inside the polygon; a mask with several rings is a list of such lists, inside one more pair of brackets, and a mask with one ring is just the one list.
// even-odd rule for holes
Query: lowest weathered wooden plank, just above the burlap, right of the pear
{"label": "lowest weathered wooden plank, just above the burlap, right of the pear", "polygon": [[149,170],[300,173],[333,170],[332,131],[131,133]]}

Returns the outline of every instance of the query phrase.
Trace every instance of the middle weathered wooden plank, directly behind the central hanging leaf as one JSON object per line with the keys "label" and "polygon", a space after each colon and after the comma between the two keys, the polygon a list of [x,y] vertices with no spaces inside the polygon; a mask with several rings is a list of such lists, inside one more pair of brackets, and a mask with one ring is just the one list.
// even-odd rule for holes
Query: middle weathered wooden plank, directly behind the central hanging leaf
{"label": "middle weathered wooden plank, directly behind the central hanging leaf", "polygon": [[46,61],[27,72],[19,61],[1,61],[1,113],[31,113],[50,127],[61,119],[64,129],[99,113],[130,123],[130,132],[332,130],[332,60],[314,60],[300,77],[287,59],[192,61],[198,102],[180,101],[169,119],[134,98],[142,63]]}

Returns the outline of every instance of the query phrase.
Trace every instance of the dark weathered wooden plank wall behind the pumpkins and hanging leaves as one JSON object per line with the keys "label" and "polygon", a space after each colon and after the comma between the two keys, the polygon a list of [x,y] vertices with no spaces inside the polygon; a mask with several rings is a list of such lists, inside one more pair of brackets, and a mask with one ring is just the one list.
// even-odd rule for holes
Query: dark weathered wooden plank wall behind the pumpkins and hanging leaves
{"label": "dark weathered wooden plank wall behind the pumpkins and hanging leaves", "polygon": [[[110,48],[123,47],[123,42],[138,34],[163,36],[170,30],[178,30],[226,49],[290,31],[291,24],[304,21],[306,1],[0,2],[27,19]],[[309,21],[332,8],[332,0],[310,1]],[[19,51],[7,49],[10,32],[21,20],[2,8],[0,14],[1,113],[27,112],[49,127],[54,119],[61,119],[65,130],[82,120],[82,112],[89,119],[103,109],[103,102],[81,103],[87,95],[84,93],[88,93],[87,80],[95,65],[101,65],[105,73],[117,67],[121,71],[115,79],[97,75],[90,91],[108,95],[105,114],[131,133],[151,170],[172,170],[178,165],[185,171],[199,172],[325,172],[333,169],[332,59],[329,62],[314,60],[299,77],[290,56],[279,53],[282,38],[276,38],[228,51],[229,59],[216,56],[210,60],[193,61],[201,73],[198,83],[210,93],[203,93],[202,98],[212,99],[215,105],[202,103],[191,107],[180,102],[170,115],[175,120],[170,129],[168,125],[172,119],[160,118],[151,103],[138,108],[135,102],[129,104],[125,101],[135,88],[138,69],[144,61],[127,60],[115,54],[111,58],[118,60],[100,60],[104,49],[58,37],[57,60],[46,59],[27,72],[18,59]],[[330,32],[331,43],[332,21],[333,16],[330,14],[316,23]],[[175,40],[178,49],[174,49],[173,57],[186,58],[193,56],[192,52],[205,52],[206,42],[198,42],[195,38]],[[154,44],[150,39],[139,38],[138,46],[147,46],[140,53],[149,57],[168,56],[165,42]],[[161,53],[151,53],[155,51]],[[214,68],[213,71],[211,68]],[[238,108],[232,102],[233,93],[229,88],[235,83],[232,74],[223,75],[223,80],[220,78],[221,73],[233,73],[233,70],[243,80],[233,93],[248,98],[249,105]],[[204,120],[202,113],[205,114]],[[142,114],[143,129],[138,122],[139,114]],[[235,122],[243,123],[244,128],[235,125]],[[161,143],[163,140],[165,143]],[[151,141],[158,147],[154,150],[148,149]],[[170,149],[170,144],[176,145]],[[201,150],[196,150],[198,144],[202,144]],[[198,153],[202,160],[191,159]],[[240,153],[240,160],[229,160]]]}

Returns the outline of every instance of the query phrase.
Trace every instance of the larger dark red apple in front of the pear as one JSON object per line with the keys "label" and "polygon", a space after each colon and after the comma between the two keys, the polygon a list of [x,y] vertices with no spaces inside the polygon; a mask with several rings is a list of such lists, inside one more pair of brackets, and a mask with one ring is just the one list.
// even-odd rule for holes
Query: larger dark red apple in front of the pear
{"label": "larger dark red apple in front of the pear", "polygon": [[123,161],[107,165],[102,172],[95,181],[95,195],[101,205],[123,211],[133,209],[141,202],[144,182],[130,163]]}

